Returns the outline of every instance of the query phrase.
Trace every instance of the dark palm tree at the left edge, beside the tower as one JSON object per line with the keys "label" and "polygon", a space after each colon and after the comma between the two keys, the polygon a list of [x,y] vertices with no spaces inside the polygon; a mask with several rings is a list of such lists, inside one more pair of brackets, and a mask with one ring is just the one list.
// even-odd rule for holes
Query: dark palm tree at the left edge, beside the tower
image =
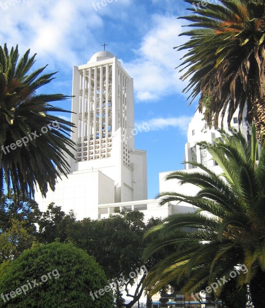
{"label": "dark palm tree at the left edge, beside the tower", "polygon": [[74,143],[67,137],[73,123],[49,112],[70,112],[50,105],[64,101],[63,94],[37,94],[55,73],[35,71],[34,54],[28,50],[19,60],[16,46],[10,52],[0,47],[0,194],[5,183],[17,194],[34,195],[38,185],[45,196],[55,189],[60,172],[69,170],[66,156],[74,157]]}

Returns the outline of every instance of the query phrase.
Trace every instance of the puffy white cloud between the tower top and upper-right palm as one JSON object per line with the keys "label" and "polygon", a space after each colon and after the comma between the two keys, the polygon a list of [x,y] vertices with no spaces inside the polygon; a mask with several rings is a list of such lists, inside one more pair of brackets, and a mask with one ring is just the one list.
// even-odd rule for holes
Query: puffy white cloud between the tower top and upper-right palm
{"label": "puffy white cloud between the tower top and upper-right palm", "polygon": [[173,16],[153,16],[153,28],[144,36],[135,59],[123,63],[134,78],[136,98],[139,101],[159,100],[169,94],[181,93],[186,83],[175,69],[185,52],[176,51],[186,38],[181,22]]}

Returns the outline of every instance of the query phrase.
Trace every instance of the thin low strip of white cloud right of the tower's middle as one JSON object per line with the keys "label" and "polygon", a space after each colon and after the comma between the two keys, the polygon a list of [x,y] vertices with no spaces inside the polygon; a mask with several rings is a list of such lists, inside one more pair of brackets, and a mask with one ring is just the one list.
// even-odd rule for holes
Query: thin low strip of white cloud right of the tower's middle
{"label": "thin low strip of white cloud right of the tower's middle", "polygon": [[187,133],[190,117],[169,117],[169,118],[153,118],[147,121],[140,121],[135,123],[135,127],[148,124],[150,130],[165,130],[168,128],[177,128],[182,133]]}

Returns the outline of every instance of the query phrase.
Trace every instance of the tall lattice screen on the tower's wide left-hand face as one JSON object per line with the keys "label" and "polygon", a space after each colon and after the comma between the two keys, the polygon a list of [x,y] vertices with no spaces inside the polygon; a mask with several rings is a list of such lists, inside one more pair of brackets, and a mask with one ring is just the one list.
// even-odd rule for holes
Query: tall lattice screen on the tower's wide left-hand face
{"label": "tall lattice screen on the tower's wide left-hand face", "polygon": [[80,70],[77,161],[108,158],[112,150],[112,65]]}

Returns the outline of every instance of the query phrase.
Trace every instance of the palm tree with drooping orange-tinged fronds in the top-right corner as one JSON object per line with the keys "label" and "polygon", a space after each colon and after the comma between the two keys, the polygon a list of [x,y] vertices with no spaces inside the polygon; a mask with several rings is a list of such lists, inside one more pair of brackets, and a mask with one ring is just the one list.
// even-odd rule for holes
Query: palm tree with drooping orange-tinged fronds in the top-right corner
{"label": "palm tree with drooping orange-tinged fronds in the top-right corner", "polygon": [[[227,123],[236,109],[239,124],[243,109],[247,121],[254,120],[257,137],[265,132],[265,4],[263,0],[216,0],[220,4],[201,0],[184,0],[192,4],[192,30],[181,35],[190,40],[179,50],[188,50],[183,57],[181,79],[189,79],[183,91],[190,91],[193,101],[200,94],[199,110],[208,125],[215,128]],[[178,48],[178,47],[175,47]]]}

